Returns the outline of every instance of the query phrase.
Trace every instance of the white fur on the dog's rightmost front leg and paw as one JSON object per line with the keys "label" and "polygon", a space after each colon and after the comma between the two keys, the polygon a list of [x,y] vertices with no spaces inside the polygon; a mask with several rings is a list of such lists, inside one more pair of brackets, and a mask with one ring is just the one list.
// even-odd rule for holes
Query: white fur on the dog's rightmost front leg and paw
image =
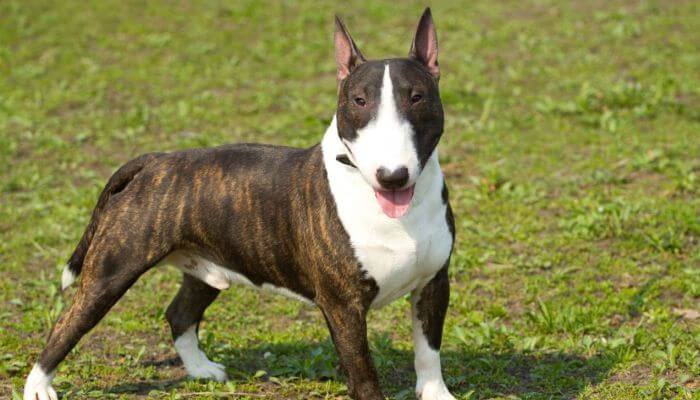
{"label": "white fur on the dog's rightmost front leg and paw", "polygon": [[411,297],[416,397],[422,400],[454,400],[442,379],[440,352],[430,347],[423,333],[423,323],[418,319],[416,304],[419,293],[420,289],[416,289]]}

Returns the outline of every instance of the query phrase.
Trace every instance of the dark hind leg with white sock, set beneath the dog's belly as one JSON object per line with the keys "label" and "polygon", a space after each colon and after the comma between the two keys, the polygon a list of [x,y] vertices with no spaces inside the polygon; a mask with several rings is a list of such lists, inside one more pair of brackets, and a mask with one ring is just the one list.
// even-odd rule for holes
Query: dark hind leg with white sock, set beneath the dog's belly
{"label": "dark hind leg with white sock, set beneath the dog's belly", "polygon": [[225,367],[207,358],[199,348],[197,337],[204,310],[218,295],[218,289],[189,274],[183,274],[180,291],[165,313],[175,341],[175,350],[187,373],[193,378],[226,380]]}

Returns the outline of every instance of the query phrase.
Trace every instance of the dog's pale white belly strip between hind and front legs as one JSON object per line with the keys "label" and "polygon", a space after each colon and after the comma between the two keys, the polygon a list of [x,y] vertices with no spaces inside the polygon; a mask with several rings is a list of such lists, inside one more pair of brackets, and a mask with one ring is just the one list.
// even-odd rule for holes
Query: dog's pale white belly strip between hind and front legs
{"label": "dog's pale white belly strip between hind and front legs", "polygon": [[256,285],[241,273],[223,267],[204,257],[187,251],[174,251],[170,253],[162,261],[162,263],[174,265],[182,270],[182,272],[194,276],[215,289],[225,290],[231,287],[231,284],[241,284],[256,289],[275,292],[285,297],[300,300],[307,304],[313,304],[310,299],[307,299],[306,297],[287,288],[275,286],[270,283]]}

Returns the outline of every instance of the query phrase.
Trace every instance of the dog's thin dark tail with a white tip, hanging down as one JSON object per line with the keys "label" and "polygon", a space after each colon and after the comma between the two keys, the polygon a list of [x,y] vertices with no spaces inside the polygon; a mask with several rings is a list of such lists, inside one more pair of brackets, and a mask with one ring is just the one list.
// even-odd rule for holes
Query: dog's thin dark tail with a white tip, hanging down
{"label": "dog's thin dark tail with a white tip, hanging down", "polygon": [[129,182],[134,179],[134,176],[141,171],[143,167],[161,155],[163,155],[163,153],[148,153],[141,155],[122,165],[121,168],[119,168],[117,172],[115,172],[114,175],[109,178],[109,181],[107,181],[107,184],[102,190],[100,197],[97,199],[97,205],[92,211],[92,217],[90,218],[87,228],[85,228],[83,237],[80,239],[80,242],[78,242],[78,246],[76,246],[75,250],[73,251],[73,255],[71,255],[68,263],[63,269],[63,274],[61,275],[61,288],[63,290],[72,285],[78,275],[80,275],[80,271],[83,269],[85,255],[90,248],[90,242],[92,241],[92,237],[95,235],[97,226],[100,223],[100,217],[102,216],[105,207],[107,207],[109,198],[112,195],[124,190],[124,188],[126,188]]}

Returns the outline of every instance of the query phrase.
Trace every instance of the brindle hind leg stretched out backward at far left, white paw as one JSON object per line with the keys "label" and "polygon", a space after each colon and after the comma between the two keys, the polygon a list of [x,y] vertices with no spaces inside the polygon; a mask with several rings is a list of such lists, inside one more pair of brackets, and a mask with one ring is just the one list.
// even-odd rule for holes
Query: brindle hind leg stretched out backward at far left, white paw
{"label": "brindle hind leg stretched out backward at far left, white paw", "polygon": [[53,326],[46,347],[27,377],[25,400],[57,399],[51,380],[58,364],[127,289],[165,255],[163,246],[154,243],[152,231],[132,231],[125,240],[125,226],[129,225],[110,226],[95,235],[73,303]]}

